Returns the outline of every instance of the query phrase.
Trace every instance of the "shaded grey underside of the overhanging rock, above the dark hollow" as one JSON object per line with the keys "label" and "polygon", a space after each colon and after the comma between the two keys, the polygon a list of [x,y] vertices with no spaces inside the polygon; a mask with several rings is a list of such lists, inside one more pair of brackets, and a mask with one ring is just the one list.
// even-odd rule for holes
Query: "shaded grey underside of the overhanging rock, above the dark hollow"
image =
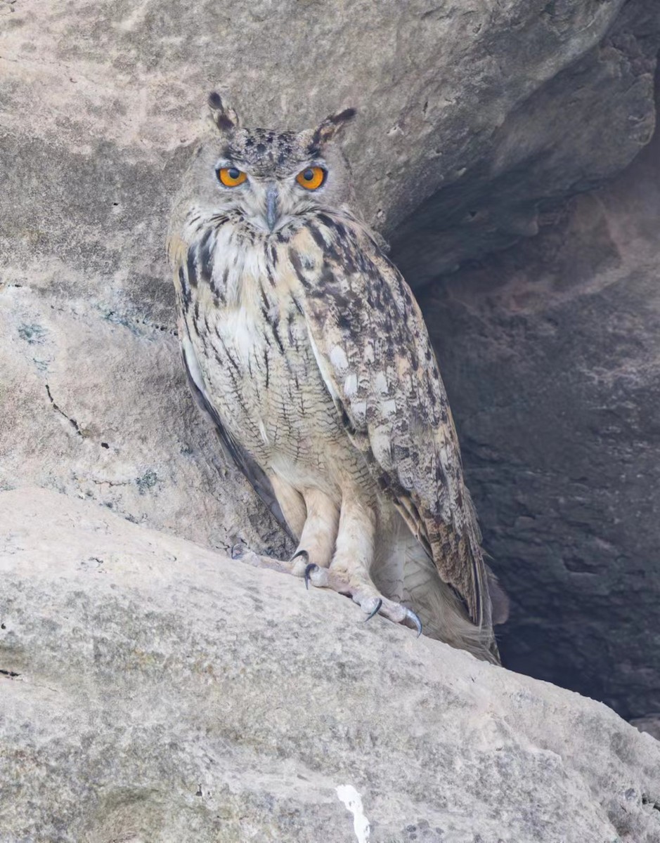
{"label": "shaded grey underside of the overhanging rock, above the dark hollow", "polygon": [[[541,15],[559,30],[573,25],[561,6],[550,3]],[[584,12],[591,17],[592,9]],[[634,0],[603,40],[530,90],[460,177],[447,179],[394,232],[393,255],[411,285],[537,234],[566,196],[602,185],[628,164],[652,136],[658,47],[657,5]]]}

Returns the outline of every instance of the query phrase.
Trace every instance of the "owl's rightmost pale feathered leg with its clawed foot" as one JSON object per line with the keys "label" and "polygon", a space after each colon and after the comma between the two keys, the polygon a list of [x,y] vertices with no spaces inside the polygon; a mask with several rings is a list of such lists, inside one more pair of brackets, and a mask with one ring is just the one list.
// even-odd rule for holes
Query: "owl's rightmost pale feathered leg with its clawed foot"
{"label": "owl's rightmost pale feathered leg with its clawed foot", "polygon": [[421,634],[418,616],[403,604],[384,597],[371,579],[371,564],[376,544],[376,513],[359,502],[344,501],[333,560],[328,569],[313,563],[307,566],[306,582],[319,588],[332,588],[346,594],[367,613],[384,615],[394,623],[414,626]]}

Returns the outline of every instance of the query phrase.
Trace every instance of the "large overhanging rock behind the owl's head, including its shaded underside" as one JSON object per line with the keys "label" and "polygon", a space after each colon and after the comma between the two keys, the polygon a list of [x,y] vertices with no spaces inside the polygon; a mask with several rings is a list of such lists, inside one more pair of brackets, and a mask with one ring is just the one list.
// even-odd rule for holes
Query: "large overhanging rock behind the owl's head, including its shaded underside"
{"label": "large overhanging rock behind the owl's head, including its shaded underside", "polygon": [[[149,311],[160,310],[163,210],[212,86],[252,124],[303,128],[356,106],[348,149],[358,195],[387,234],[439,188],[457,185],[479,211],[488,183],[505,181],[496,207],[498,242],[508,242],[511,226],[518,235],[533,224],[526,203],[611,174],[650,137],[651,5],[387,0],[338,14],[292,0],[221,10],[204,0],[194,11],[83,0],[73,12],[64,0],[19,0],[0,40],[14,260],[34,260],[36,241],[84,263],[105,296],[127,287],[124,309],[144,312],[147,293]],[[98,273],[114,284],[99,285]]]}

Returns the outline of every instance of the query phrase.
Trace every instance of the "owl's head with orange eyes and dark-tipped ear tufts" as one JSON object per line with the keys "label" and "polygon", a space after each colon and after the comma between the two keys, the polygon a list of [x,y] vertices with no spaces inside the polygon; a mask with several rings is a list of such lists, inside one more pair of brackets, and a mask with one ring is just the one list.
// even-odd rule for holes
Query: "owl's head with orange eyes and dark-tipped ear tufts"
{"label": "owl's head with orange eyes and dark-tipped ear tufts", "polygon": [[235,212],[268,235],[353,199],[349,168],[333,139],[354,109],[327,117],[316,129],[274,132],[243,128],[219,94],[211,94],[208,105],[214,134],[192,163],[195,201],[203,212]]}

